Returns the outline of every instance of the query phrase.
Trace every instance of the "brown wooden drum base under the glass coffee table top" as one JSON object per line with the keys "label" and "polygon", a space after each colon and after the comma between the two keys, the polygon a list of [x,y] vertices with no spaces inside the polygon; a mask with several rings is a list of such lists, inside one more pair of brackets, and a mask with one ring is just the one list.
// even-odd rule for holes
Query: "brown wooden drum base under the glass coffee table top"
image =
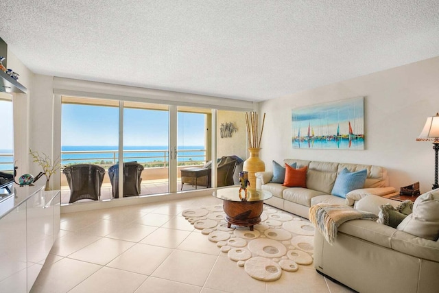
{"label": "brown wooden drum base under the glass coffee table top", "polygon": [[226,213],[227,227],[232,224],[237,226],[253,226],[261,222],[263,211],[263,201],[258,202],[231,202],[224,200],[224,213]]}

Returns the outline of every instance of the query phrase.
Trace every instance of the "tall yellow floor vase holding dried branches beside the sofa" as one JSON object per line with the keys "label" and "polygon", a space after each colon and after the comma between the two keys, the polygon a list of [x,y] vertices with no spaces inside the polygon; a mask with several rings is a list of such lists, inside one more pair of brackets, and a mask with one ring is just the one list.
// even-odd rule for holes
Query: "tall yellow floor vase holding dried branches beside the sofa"
{"label": "tall yellow floor vase holding dried branches beside the sofa", "polygon": [[263,125],[265,123],[265,113],[263,114],[261,132],[259,133],[259,119],[256,112],[246,112],[246,126],[248,139],[248,152],[250,157],[244,161],[243,171],[248,172],[248,180],[250,188],[256,188],[256,172],[265,171],[265,163],[259,159],[259,151],[261,150],[261,138],[263,133]]}

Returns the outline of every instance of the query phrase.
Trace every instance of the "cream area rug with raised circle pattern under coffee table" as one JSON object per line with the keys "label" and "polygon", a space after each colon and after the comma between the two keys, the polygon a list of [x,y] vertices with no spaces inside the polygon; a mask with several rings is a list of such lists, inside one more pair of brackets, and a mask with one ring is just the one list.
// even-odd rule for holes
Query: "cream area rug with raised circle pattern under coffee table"
{"label": "cream area rug with raised circle pattern under coffee table", "polygon": [[186,209],[182,215],[254,279],[276,281],[283,272],[313,263],[313,225],[265,204],[254,231],[235,225],[227,228],[222,204]]}

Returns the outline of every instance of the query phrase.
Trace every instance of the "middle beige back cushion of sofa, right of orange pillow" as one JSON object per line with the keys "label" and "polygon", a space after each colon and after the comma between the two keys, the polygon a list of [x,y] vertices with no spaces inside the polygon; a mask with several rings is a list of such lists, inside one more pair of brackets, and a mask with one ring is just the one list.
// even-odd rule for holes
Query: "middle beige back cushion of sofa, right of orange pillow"
{"label": "middle beige back cushion of sofa, right of orange pillow", "polygon": [[313,161],[309,163],[307,174],[307,187],[331,194],[337,178],[338,163]]}

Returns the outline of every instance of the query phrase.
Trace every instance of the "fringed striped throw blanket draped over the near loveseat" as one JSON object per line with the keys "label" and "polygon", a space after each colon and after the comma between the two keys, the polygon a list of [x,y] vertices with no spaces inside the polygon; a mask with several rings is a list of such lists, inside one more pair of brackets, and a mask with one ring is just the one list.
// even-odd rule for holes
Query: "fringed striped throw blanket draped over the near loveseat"
{"label": "fringed striped throw blanket draped over the near loveseat", "polygon": [[329,244],[333,244],[337,237],[337,228],[349,220],[373,220],[378,219],[374,213],[359,211],[344,204],[316,204],[309,209],[309,220],[322,233]]}

